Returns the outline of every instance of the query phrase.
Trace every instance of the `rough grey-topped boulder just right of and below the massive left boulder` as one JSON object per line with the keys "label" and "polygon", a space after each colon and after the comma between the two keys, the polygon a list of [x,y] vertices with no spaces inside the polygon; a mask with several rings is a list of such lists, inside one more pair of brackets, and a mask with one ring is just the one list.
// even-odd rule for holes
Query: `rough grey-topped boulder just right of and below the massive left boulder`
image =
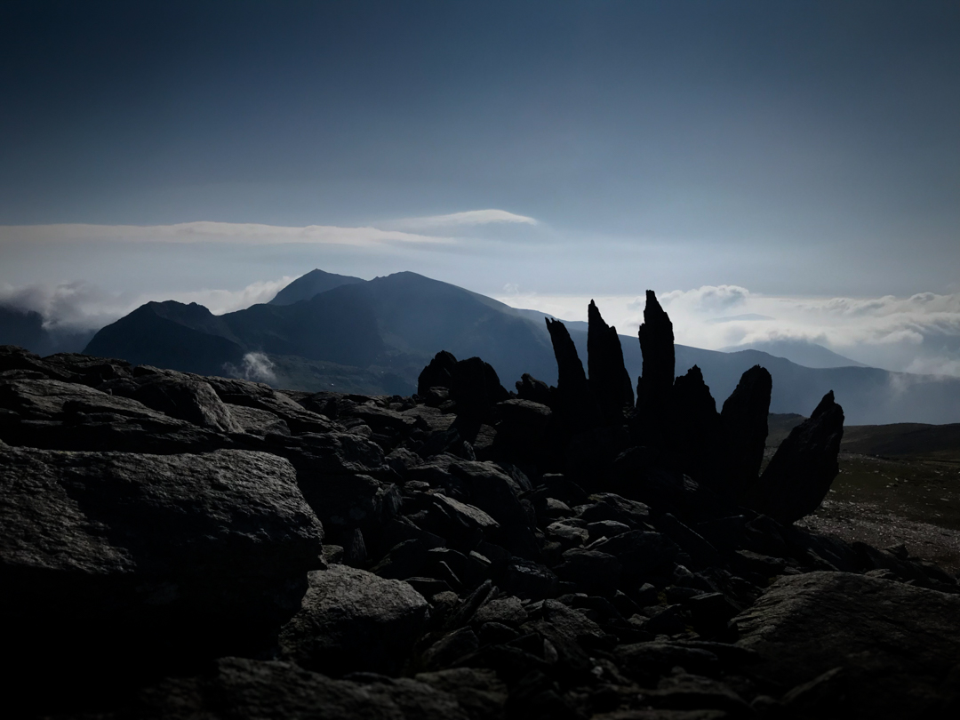
{"label": "rough grey-topped boulder just right of and below the massive left boulder", "polygon": [[300,612],[280,631],[282,656],[332,675],[396,673],[429,616],[420,593],[346,565],[308,577]]}

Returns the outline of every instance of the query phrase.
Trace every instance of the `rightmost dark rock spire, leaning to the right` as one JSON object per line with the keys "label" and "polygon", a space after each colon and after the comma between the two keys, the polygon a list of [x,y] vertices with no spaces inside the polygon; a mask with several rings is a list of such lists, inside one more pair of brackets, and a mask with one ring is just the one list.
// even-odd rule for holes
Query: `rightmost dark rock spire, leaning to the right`
{"label": "rightmost dark rock spire, leaning to the right", "polygon": [[780,522],[795,522],[824,501],[840,467],[843,408],[830,391],[780,443],[770,465],[744,497],[745,504]]}

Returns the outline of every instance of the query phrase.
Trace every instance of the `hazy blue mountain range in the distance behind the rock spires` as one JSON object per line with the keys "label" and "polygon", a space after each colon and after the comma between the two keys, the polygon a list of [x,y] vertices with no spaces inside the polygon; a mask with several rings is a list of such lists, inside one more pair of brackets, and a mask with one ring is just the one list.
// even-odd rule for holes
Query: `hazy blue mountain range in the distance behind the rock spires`
{"label": "hazy blue mountain range in the distance behind the rock spires", "polygon": [[[557,365],[543,319],[497,300],[416,273],[361,280],[313,271],[272,301],[216,316],[202,305],[149,302],[101,329],[85,352],[186,372],[236,374],[249,353],[272,372],[262,379],[295,390],[381,395],[416,392],[417,377],[440,350],[479,356],[503,385],[524,372],[549,384]],[[279,296],[278,296],[279,297]],[[603,308],[600,308],[602,311]],[[565,323],[581,359],[587,324]],[[643,356],[636,337],[620,335],[624,365],[636,382]],[[676,372],[697,365],[721,404],[740,376],[761,365],[773,376],[773,413],[808,412],[829,390],[853,424],[960,421],[960,378],[876,368],[808,368],[756,349],[721,352],[676,346]],[[249,375],[245,375],[249,376]]]}

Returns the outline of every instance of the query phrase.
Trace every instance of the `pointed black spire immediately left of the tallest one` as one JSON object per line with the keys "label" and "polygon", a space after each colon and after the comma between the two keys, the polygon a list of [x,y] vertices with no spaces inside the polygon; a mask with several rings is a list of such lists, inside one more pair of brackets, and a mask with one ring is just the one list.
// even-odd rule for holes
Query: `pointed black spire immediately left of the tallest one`
{"label": "pointed black spire immediately left of the tallest one", "polygon": [[604,420],[623,420],[623,413],[634,406],[634,388],[623,364],[623,348],[616,328],[606,324],[600,310],[590,300],[587,308],[587,365],[589,385],[600,404]]}

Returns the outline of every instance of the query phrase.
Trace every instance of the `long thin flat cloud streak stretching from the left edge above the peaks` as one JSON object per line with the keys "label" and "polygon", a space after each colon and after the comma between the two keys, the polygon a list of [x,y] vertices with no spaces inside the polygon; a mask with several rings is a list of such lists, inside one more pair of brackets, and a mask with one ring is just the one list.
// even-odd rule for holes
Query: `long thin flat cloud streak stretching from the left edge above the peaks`
{"label": "long thin flat cloud streak stretching from the left edge above the peaks", "polygon": [[282,243],[347,245],[449,245],[454,238],[420,235],[396,229],[338,228],[308,225],[291,228],[257,223],[178,223],[176,225],[20,225],[0,226],[0,245],[6,243],[91,242],[126,243],[235,243],[278,245]]}

